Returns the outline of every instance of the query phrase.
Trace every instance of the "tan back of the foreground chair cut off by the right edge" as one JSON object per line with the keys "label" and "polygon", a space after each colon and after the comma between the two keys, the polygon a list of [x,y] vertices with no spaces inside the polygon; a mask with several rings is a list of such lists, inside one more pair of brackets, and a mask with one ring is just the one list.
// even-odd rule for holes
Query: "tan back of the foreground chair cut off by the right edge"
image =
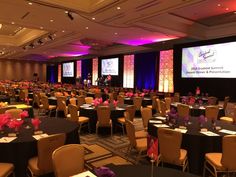
{"label": "tan back of the foreground chair cut off by the right edge", "polygon": [[226,135],[222,142],[222,159],[221,163],[229,171],[236,170],[236,135]]}

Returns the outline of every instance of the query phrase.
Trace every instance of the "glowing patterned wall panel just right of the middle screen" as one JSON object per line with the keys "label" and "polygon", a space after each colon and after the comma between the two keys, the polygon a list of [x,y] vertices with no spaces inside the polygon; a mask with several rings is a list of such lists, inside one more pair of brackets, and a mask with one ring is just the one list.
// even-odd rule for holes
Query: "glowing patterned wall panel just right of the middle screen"
{"label": "glowing patterned wall panel just right of the middle screen", "polygon": [[134,55],[124,56],[123,87],[134,88]]}

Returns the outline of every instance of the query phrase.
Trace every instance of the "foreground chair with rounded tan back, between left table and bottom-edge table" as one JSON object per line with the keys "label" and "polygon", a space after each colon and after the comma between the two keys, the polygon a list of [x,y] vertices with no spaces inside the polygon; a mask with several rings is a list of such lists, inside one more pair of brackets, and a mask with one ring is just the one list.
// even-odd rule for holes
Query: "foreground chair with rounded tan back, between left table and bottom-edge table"
{"label": "foreground chair with rounded tan back, between left table and bottom-edge table", "polygon": [[52,154],[55,177],[69,177],[84,171],[84,147],[68,144],[57,148]]}

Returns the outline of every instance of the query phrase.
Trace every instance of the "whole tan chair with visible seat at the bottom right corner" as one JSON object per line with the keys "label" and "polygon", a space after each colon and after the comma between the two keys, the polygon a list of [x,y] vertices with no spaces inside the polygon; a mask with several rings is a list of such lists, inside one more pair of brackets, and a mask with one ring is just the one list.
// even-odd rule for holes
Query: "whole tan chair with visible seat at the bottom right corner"
{"label": "whole tan chair with visible seat at the bottom right corner", "polygon": [[206,170],[217,177],[218,173],[236,173],[236,135],[226,135],[222,139],[222,153],[206,153],[203,177]]}

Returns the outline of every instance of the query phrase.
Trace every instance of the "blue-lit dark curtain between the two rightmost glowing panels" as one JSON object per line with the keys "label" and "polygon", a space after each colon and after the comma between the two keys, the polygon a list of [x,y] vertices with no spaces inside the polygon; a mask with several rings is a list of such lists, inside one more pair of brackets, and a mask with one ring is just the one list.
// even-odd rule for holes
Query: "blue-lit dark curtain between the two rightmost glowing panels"
{"label": "blue-lit dark curtain between the two rightmost glowing panels", "polygon": [[155,89],[158,53],[140,53],[134,59],[134,85],[138,89]]}

